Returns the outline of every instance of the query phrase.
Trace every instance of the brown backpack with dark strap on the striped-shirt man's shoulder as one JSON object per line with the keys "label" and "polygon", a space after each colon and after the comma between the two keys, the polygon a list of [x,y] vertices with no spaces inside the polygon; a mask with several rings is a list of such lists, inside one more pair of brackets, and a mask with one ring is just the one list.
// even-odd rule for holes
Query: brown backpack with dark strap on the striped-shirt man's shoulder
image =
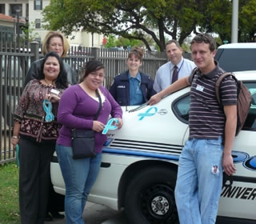
{"label": "brown backpack with dark strap on the striped-shirt man's shoulder", "polygon": [[219,87],[221,85],[222,79],[225,78],[228,75],[232,75],[234,80],[237,82],[238,86],[238,102],[237,102],[237,129],[235,132],[235,135],[238,135],[239,131],[242,129],[242,126],[246,122],[247,115],[249,114],[250,110],[250,103],[251,103],[251,94],[250,91],[246,88],[246,86],[242,83],[242,81],[238,81],[237,78],[235,78],[234,74],[232,73],[224,73],[222,74],[215,85],[215,92],[216,92],[216,97],[218,99],[218,104],[222,106],[220,97],[219,97]]}

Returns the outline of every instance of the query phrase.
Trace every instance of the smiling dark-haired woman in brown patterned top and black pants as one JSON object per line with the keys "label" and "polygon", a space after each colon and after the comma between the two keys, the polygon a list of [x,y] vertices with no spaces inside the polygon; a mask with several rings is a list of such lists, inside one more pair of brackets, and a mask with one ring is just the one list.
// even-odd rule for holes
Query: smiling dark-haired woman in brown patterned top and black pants
{"label": "smiling dark-haired woman in brown patterned top and black pants", "polygon": [[58,101],[67,87],[62,60],[58,54],[49,52],[43,59],[38,79],[26,85],[15,110],[11,143],[14,148],[17,144],[20,147],[19,206],[22,224],[44,222],[50,185],[50,158],[60,128],[56,119]]}

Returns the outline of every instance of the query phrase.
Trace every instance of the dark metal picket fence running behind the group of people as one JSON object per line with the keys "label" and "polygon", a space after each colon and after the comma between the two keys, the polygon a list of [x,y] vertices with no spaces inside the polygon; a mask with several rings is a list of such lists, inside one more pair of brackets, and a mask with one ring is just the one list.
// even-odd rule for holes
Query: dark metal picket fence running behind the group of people
{"label": "dark metal picket fence running behind the group of people", "polygon": [[[91,59],[101,61],[106,67],[106,78],[103,85],[106,88],[117,74],[127,70],[127,50],[107,50],[89,47],[70,47],[64,61],[74,69],[77,80],[82,76],[82,68]],[[3,42],[0,39],[0,164],[15,159],[15,151],[10,144],[13,128],[13,114],[20,95],[30,63],[42,58],[41,46],[38,42]],[[159,66],[166,63],[165,53],[146,52],[141,70],[154,79]]]}

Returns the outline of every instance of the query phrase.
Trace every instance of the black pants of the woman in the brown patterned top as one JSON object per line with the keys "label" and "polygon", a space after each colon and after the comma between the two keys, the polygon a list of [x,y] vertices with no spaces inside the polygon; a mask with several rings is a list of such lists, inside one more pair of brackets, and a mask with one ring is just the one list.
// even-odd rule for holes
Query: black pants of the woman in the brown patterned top
{"label": "black pants of the woman in the brown patterned top", "polygon": [[42,224],[50,187],[50,159],[55,142],[19,140],[19,206],[22,224]]}

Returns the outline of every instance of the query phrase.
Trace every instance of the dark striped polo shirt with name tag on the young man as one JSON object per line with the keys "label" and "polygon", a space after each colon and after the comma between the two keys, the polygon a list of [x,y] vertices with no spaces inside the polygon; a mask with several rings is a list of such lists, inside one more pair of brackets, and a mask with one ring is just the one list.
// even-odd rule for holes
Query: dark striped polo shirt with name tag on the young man
{"label": "dark striped polo shirt with name tag on the young man", "polygon": [[[218,63],[214,70],[208,74],[202,74],[198,70],[190,75],[190,137],[217,139],[224,136],[226,117],[222,106],[219,106],[215,94],[215,84],[225,71]],[[220,98],[223,106],[237,104],[237,86],[232,76],[222,79],[220,86]]]}

